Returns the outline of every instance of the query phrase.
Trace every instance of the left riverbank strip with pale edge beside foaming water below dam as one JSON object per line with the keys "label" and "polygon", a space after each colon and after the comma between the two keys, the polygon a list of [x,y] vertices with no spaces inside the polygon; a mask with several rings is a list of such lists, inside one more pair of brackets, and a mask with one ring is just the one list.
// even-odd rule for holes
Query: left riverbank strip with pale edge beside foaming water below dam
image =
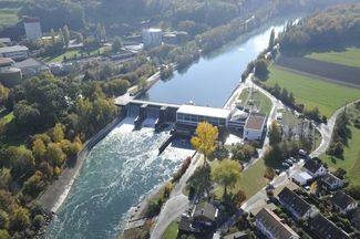
{"label": "left riverbank strip with pale edge beside foaming water below dam", "polygon": [[79,175],[79,172],[88,157],[89,152],[103,139],[122,119],[124,115],[120,115],[106,127],[100,131],[96,135],[90,138],[83,146],[83,149],[78,154],[76,163],[73,167],[66,167],[59,178],[48,187],[40,196],[38,202],[48,212],[55,214],[61,205],[66,199],[70,189]]}

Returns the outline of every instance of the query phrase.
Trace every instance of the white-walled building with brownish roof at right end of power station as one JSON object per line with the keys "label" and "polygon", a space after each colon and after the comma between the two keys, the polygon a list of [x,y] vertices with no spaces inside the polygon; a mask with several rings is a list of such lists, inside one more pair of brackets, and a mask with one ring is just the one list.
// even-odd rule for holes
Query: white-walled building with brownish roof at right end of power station
{"label": "white-walled building with brownish roof at right end of power station", "polygon": [[245,122],[243,137],[245,141],[261,141],[266,127],[267,116],[260,113],[250,113]]}

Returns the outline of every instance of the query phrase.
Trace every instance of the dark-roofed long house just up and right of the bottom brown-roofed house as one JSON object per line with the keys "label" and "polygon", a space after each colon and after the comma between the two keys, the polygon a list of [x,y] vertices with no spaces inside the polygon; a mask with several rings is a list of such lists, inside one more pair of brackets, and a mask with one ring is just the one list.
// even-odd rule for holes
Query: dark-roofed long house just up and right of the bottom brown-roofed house
{"label": "dark-roofed long house just up and right of the bottom brown-roofed house", "polygon": [[280,204],[291,212],[296,220],[307,220],[317,214],[313,206],[306,202],[288,187],[285,187],[278,197]]}

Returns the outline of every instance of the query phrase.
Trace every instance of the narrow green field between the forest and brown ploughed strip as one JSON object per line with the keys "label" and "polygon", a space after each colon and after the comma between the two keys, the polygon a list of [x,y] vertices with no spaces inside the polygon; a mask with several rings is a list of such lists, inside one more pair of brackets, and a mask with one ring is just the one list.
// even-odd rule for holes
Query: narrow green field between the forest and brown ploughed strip
{"label": "narrow green field between the forest and brown ploughed strip", "polygon": [[306,55],[306,58],[360,67],[360,48],[347,48],[343,51],[311,53]]}

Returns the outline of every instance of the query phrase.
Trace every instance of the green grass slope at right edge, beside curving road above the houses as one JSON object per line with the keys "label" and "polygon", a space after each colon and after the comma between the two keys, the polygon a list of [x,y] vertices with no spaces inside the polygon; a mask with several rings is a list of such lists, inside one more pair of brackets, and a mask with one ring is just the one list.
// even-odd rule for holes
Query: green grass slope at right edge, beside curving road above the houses
{"label": "green grass slope at right edge, beside curving road above the houses", "polygon": [[[360,118],[360,111],[349,110],[353,118]],[[348,147],[344,147],[343,159],[335,158],[329,155],[321,155],[320,158],[326,162],[330,169],[343,168],[348,172],[350,184],[360,185],[360,129],[353,125],[350,127],[352,137],[349,139]]]}

